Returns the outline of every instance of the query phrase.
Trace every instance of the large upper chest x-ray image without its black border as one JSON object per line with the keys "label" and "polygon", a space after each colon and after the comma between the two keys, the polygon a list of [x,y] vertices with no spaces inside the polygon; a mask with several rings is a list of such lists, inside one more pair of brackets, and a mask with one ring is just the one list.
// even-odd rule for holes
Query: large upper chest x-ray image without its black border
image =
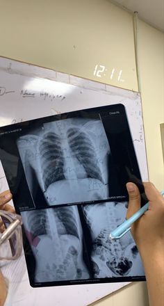
{"label": "large upper chest x-ray image without its black border", "polygon": [[17,140],[35,206],[108,198],[110,147],[100,120],[69,118],[42,124]]}

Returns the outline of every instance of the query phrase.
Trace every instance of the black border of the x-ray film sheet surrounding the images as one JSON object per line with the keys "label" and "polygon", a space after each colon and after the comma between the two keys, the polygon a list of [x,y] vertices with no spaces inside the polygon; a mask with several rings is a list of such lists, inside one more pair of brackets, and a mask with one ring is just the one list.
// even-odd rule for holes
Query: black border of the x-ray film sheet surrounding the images
{"label": "black border of the x-ray film sheet surrounding the images", "polygon": [[[143,201],[142,205],[147,202],[147,199],[145,199],[145,194],[144,194],[144,188],[142,186],[142,179],[140,175],[140,169],[138,166],[138,161],[136,158],[136,152],[133,147],[133,140],[131,138],[131,131],[129,127],[129,122],[126,117],[126,110],[124,108],[124,105],[122,104],[113,104],[109,106],[101,106],[97,108],[88,108],[88,109],[83,109],[81,111],[72,111],[69,113],[61,113],[58,115],[51,115],[45,118],[38,118],[35,120],[28,120],[26,122],[20,122],[17,124],[10,124],[6,127],[0,127],[0,149],[8,152],[9,154],[15,154],[19,158],[19,165],[18,167],[20,168],[19,171],[17,171],[17,176],[14,181],[14,184],[10,183],[10,179],[8,179],[8,167],[2,162],[4,171],[6,173],[6,177],[8,180],[8,184],[10,187],[10,191],[13,193],[13,201],[15,204],[15,210],[17,211],[18,214],[20,214],[20,211],[26,211],[29,209],[29,207],[26,206],[26,202],[32,201],[31,199],[31,194],[28,189],[28,185],[26,183],[26,177],[24,175],[24,169],[22,166],[22,161],[19,156],[19,151],[17,150],[17,146],[15,144],[14,152],[13,152],[13,147],[10,147],[10,143],[14,143],[15,140],[13,140],[13,135],[18,138],[19,136],[24,135],[26,131],[29,131],[31,127],[38,126],[38,124],[43,124],[46,122],[52,122],[54,120],[63,120],[67,118],[74,118],[75,116],[79,116],[82,118],[90,118],[90,116],[93,117],[95,116],[94,114],[97,114],[97,119],[99,118],[104,125],[104,128],[107,130],[106,131],[106,136],[108,138],[108,142],[110,145],[110,150],[114,156],[114,162],[116,164],[116,168],[118,170],[118,174],[121,177],[122,181],[122,191],[124,193],[124,196],[120,198],[119,196],[116,197],[114,200],[117,202],[123,202],[128,200],[128,194],[126,192],[125,184],[126,182],[135,182],[138,187],[140,188],[140,192],[143,194]],[[95,118],[95,117],[94,117]],[[114,130],[112,131],[111,125],[108,124],[108,122],[119,122],[121,119],[122,123],[120,126],[117,127],[117,124],[114,124]],[[111,123],[113,124],[113,123]],[[108,129],[108,127],[110,127]],[[118,128],[118,129],[117,129]],[[117,129],[117,131],[115,131]],[[123,136],[123,138],[122,138]],[[120,153],[122,152],[122,147],[120,147],[120,150],[117,151],[117,145],[115,143],[115,137],[117,139],[118,145],[122,146],[122,139],[127,140],[126,141],[126,146],[127,146],[127,154],[128,158],[125,157],[125,161],[122,163],[120,160]],[[112,139],[112,140],[111,140]],[[9,142],[9,143],[8,143]],[[117,152],[117,154],[115,154]],[[0,152],[0,159],[1,159],[1,152]],[[124,170],[124,165],[128,164],[128,168],[130,171],[130,175],[127,175],[127,171]],[[127,168],[127,167],[126,167]],[[20,175],[21,173],[21,175]],[[23,175],[23,179],[22,179]],[[123,175],[123,176],[122,176]],[[125,175],[125,177],[124,177]],[[24,198],[24,193],[28,195],[26,197],[25,204],[18,204],[21,203],[22,199]],[[113,201],[113,198],[110,199],[104,199],[104,200],[99,200],[99,201],[92,201],[95,204],[98,202],[111,202]],[[74,202],[74,203],[69,203],[67,205],[81,205],[81,204],[90,204],[91,202]],[[60,204],[61,206],[62,204]],[[63,204],[65,206],[65,204]],[[58,205],[56,205],[58,207]],[[37,209],[42,209],[43,207],[38,207]],[[49,207],[45,207],[45,209],[49,209]],[[26,245],[28,245],[29,248],[29,243],[27,239],[24,239],[24,250],[26,249]],[[27,267],[29,266],[29,255],[27,252],[25,252],[26,256],[26,263]],[[61,282],[43,282],[43,283],[34,283],[33,282],[33,277],[31,278],[31,275],[29,273],[29,279],[32,287],[47,287],[47,286],[60,286],[60,285],[68,285],[68,284],[94,284],[94,283],[102,283],[102,282],[131,282],[133,281],[143,281],[145,280],[145,277],[141,276],[135,276],[135,277],[110,277],[110,278],[102,278],[102,279],[93,279],[93,280],[69,280],[69,281],[61,281]]]}

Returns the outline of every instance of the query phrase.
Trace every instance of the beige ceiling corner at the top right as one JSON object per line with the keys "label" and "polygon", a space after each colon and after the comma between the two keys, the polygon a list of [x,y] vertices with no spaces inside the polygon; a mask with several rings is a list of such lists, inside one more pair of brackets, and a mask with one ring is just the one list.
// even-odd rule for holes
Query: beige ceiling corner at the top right
{"label": "beige ceiling corner at the top right", "polygon": [[156,29],[164,32],[164,0],[111,0],[111,2],[131,11]]}

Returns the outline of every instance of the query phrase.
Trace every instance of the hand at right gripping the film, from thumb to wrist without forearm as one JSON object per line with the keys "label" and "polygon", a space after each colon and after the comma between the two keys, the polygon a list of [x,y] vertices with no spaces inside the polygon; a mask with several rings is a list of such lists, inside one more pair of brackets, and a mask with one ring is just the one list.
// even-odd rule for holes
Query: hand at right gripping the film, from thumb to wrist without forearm
{"label": "hand at right gripping the film, from thumb to wrist without forearm", "polygon": [[[131,227],[131,234],[140,255],[146,257],[157,250],[164,255],[164,198],[151,183],[144,183],[149,199],[149,209]],[[140,209],[140,192],[133,183],[126,184],[129,193],[129,207],[126,218]]]}

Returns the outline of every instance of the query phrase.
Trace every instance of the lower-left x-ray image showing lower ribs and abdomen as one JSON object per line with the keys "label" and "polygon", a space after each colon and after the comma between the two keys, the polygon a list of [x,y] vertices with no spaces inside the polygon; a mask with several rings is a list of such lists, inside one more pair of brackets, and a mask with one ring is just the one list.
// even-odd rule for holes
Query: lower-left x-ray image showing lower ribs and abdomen
{"label": "lower-left x-ray image showing lower ribs and abdomen", "polygon": [[90,278],[77,207],[24,211],[22,219],[35,257],[35,282]]}

